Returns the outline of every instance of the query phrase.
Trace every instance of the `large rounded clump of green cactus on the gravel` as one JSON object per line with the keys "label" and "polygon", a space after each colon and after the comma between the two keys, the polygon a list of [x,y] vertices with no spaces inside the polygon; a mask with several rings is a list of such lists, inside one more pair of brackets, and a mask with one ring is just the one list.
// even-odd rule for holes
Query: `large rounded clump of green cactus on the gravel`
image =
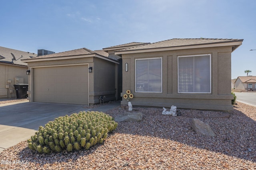
{"label": "large rounded clump of green cactus on the gravel", "polygon": [[87,150],[97,143],[103,143],[117,125],[105,113],[80,111],[70,116],[57,117],[45,127],[40,126],[35,135],[28,139],[28,147],[45,154]]}

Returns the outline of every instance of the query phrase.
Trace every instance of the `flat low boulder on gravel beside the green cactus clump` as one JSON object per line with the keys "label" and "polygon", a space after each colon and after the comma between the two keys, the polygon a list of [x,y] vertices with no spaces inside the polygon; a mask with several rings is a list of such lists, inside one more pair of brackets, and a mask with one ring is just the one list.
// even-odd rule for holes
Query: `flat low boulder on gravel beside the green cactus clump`
{"label": "flat low boulder on gravel beside the green cactus clump", "polygon": [[114,118],[116,122],[121,121],[141,121],[142,113],[138,111],[127,111]]}

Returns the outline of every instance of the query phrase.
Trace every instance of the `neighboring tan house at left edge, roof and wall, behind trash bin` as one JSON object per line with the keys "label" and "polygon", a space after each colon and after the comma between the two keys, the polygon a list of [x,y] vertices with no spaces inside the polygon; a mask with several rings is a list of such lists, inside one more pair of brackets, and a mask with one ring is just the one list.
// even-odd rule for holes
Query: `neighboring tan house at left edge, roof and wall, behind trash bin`
{"label": "neighboring tan house at left edge, roof and wall, behind trash bin", "polygon": [[0,98],[16,98],[14,84],[28,84],[28,64],[21,59],[30,59],[36,54],[0,47]]}

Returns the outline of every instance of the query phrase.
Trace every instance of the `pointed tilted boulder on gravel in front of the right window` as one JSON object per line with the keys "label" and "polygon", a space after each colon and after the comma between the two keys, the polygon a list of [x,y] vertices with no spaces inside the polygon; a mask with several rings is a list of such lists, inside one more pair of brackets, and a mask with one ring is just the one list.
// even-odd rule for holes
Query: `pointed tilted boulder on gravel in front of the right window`
{"label": "pointed tilted boulder on gravel in front of the right window", "polygon": [[192,129],[194,129],[194,131],[196,131],[196,133],[199,135],[211,136],[211,137],[216,136],[215,133],[212,131],[212,128],[207,123],[204,123],[199,119],[196,119],[196,118],[192,119],[191,126],[192,126]]}

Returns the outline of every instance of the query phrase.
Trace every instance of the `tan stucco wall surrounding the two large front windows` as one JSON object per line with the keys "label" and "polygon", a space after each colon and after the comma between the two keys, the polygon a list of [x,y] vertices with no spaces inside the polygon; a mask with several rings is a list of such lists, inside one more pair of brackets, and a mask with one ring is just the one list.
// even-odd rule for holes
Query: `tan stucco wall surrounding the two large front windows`
{"label": "tan stucco wall surrounding the two large front windows", "polygon": [[[231,51],[232,47],[211,47],[201,49],[186,49],[159,51],[151,53],[122,54],[123,65],[123,94],[131,90],[134,106],[156,106],[187,109],[232,110],[230,81],[231,81]],[[211,54],[211,93],[189,94],[178,93],[178,56]],[[162,92],[135,92],[135,59],[162,58]],[[128,63],[128,72],[124,71]],[[126,105],[126,99],[121,104]]]}

